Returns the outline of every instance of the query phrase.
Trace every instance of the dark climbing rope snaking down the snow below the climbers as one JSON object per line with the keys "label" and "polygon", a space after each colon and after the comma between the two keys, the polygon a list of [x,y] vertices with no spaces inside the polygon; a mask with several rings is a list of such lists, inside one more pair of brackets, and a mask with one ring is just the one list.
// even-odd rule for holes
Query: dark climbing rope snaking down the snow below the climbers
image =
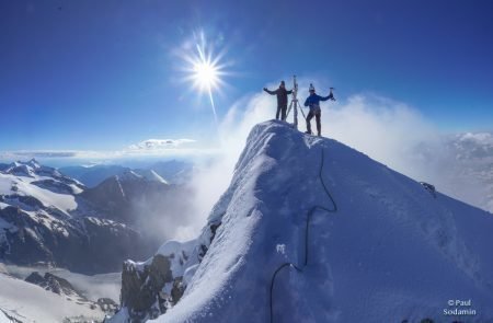
{"label": "dark climbing rope snaking down the snow below the climbers", "polygon": [[337,205],[334,201],[334,198],[332,197],[331,193],[329,192],[329,188],[325,185],[325,182],[323,182],[323,176],[322,176],[322,172],[323,172],[323,164],[324,164],[324,153],[323,153],[323,149],[322,149],[322,162],[320,163],[320,170],[319,170],[319,178],[320,182],[322,183],[322,187],[323,191],[325,192],[326,196],[329,196],[329,199],[331,200],[333,208],[329,209],[324,206],[321,205],[316,205],[313,206],[307,214],[307,221],[306,221],[306,227],[305,227],[305,261],[302,266],[298,267],[297,265],[293,264],[293,263],[284,263],[282,264],[272,275],[271,278],[271,323],[274,322],[274,285],[276,281],[276,277],[277,274],[280,273],[284,268],[288,268],[288,267],[293,267],[295,268],[297,272],[302,273],[305,267],[308,265],[308,240],[309,240],[309,233],[310,233],[310,220],[311,220],[311,216],[317,211],[317,210],[322,210],[322,211],[326,211],[326,212],[336,212],[337,211]]}

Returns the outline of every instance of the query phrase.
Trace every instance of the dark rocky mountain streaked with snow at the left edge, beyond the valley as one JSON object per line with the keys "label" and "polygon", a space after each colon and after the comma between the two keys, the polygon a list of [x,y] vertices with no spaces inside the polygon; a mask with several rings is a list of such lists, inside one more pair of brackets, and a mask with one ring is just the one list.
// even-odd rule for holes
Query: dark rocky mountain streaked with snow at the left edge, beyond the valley
{"label": "dark rocky mountain streaked with snow at the left edge, beyond the valley", "polygon": [[108,219],[81,197],[84,191],[80,182],[35,160],[0,171],[0,261],[107,273],[118,270],[130,254],[149,252],[145,237]]}

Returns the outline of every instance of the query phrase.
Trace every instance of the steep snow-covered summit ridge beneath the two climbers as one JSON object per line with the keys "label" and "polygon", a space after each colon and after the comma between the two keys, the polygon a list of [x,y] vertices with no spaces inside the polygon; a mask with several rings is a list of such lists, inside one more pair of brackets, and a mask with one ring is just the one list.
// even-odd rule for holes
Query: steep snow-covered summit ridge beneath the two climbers
{"label": "steep snow-covered summit ridge beneath the two climbers", "polygon": [[[308,211],[334,208],[324,185],[337,210],[316,211],[307,237]],[[183,298],[156,322],[493,321],[492,215],[337,141],[255,126],[208,226],[219,221]],[[302,273],[282,269],[271,299],[284,263]],[[449,300],[477,314],[444,316]]]}

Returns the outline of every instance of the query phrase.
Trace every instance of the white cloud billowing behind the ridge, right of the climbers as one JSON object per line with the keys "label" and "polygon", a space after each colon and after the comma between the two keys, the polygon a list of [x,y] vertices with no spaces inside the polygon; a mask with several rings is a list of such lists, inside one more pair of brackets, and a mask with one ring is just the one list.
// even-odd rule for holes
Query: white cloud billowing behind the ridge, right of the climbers
{"label": "white cloud billowing behind the ridge, right of the climbers", "polygon": [[417,109],[375,95],[325,104],[322,132],[416,180],[424,176],[416,149],[423,143],[439,146],[442,137]]}

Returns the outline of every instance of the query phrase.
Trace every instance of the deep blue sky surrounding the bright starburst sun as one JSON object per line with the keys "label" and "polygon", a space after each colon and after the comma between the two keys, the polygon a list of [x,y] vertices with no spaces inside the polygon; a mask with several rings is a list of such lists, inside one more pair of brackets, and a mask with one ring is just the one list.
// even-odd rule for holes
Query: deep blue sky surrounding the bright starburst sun
{"label": "deep blue sky surrounding the bright starburst sun", "polygon": [[0,151],[214,138],[207,96],[180,81],[176,53],[199,31],[230,72],[219,118],[297,73],[443,131],[493,128],[493,1],[266,2],[1,0]]}

